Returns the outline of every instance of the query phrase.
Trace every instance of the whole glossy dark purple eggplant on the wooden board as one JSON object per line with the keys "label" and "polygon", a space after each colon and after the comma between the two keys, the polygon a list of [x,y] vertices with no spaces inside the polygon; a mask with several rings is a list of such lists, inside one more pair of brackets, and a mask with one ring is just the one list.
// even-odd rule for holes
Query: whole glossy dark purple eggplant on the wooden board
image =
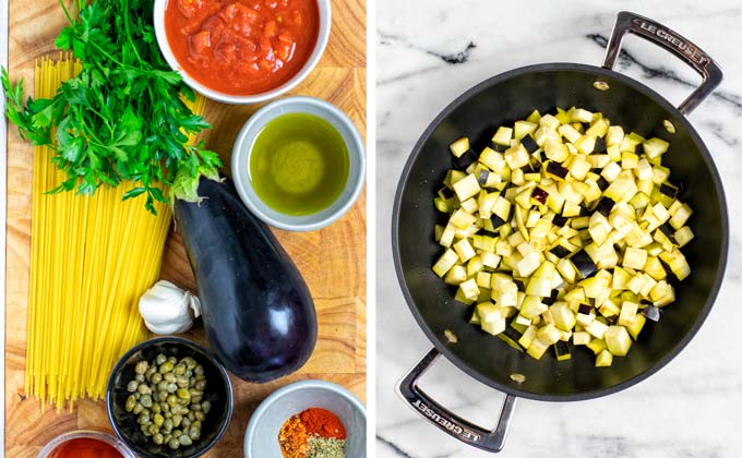
{"label": "whole glossy dark purple eggplant on the wooden board", "polygon": [[238,377],[270,382],[301,367],[316,342],[307,284],[230,180],[201,179],[200,204],[177,200],[176,228],[195,275],[208,345]]}

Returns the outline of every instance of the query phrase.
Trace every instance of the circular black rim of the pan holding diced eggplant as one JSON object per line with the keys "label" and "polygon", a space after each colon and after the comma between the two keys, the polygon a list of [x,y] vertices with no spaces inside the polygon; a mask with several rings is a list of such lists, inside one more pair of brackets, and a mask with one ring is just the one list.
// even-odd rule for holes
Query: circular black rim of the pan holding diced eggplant
{"label": "circular black rim of the pan holding diced eggplant", "polygon": [[[455,109],[467,103],[471,97],[474,97],[476,94],[484,91],[486,88],[502,83],[506,80],[514,79],[522,76],[524,74],[529,74],[529,73],[542,73],[542,72],[552,72],[552,71],[575,71],[575,72],[583,72],[583,73],[589,73],[593,75],[603,75],[603,76],[610,76],[612,79],[620,80],[622,83],[631,86],[635,91],[643,93],[644,95],[648,96],[651,98],[655,103],[660,105],[667,112],[674,114],[675,119],[679,119],[680,122],[683,124],[683,126],[687,130],[691,138],[695,143],[695,145],[698,147],[698,152],[701,153],[702,157],[705,159],[705,162],[708,167],[708,171],[711,174],[714,179],[714,185],[716,189],[717,197],[719,200],[719,208],[720,208],[720,230],[721,230],[721,253],[720,253],[720,258],[719,258],[719,264],[718,268],[716,272],[716,277],[714,280],[714,285],[711,287],[711,292],[708,296],[706,303],[703,305],[701,309],[701,312],[698,314],[698,318],[695,321],[693,326],[689,329],[687,333],[678,341],[675,346],[673,346],[662,358],[659,359],[659,361],[651,365],[649,369],[646,371],[627,378],[621,383],[618,383],[615,385],[611,385],[609,387],[605,388],[599,388],[599,389],[589,389],[589,390],[584,390],[584,391],[578,391],[578,393],[571,393],[571,394],[541,394],[541,393],[535,393],[535,391],[528,391],[525,389],[517,389],[510,387],[507,385],[503,385],[499,382],[492,381],[491,378],[484,376],[483,374],[479,373],[462,358],[457,357],[445,345],[441,342],[441,339],[438,338],[433,334],[433,332],[430,329],[428,324],[426,323],[424,318],[422,317],[422,314],[420,313],[418,306],[415,303],[415,300],[412,299],[411,292],[405,281],[403,268],[402,268],[402,262],[399,257],[399,215],[400,215],[400,205],[402,205],[402,194],[403,191],[408,182],[410,170],[412,168],[412,165],[417,161],[418,156],[420,155],[420,152],[422,149],[422,146],[427,143],[427,141],[430,138],[432,132],[439,126],[439,124],[447,118],[451,112],[453,112]],[[463,94],[457,96],[451,104],[448,104],[431,122],[428,124],[426,130],[422,132],[418,141],[415,143],[415,146],[412,147],[412,150],[410,152],[406,162],[405,167],[403,168],[402,174],[399,177],[399,181],[397,183],[397,189],[395,192],[394,196],[394,206],[393,206],[393,213],[392,213],[392,254],[393,254],[393,260],[394,260],[394,267],[397,276],[397,281],[399,282],[399,287],[402,289],[403,296],[405,298],[405,302],[407,302],[407,306],[409,308],[410,312],[412,313],[412,316],[415,317],[415,321],[417,322],[418,326],[422,329],[426,337],[431,341],[431,343],[435,347],[438,351],[441,352],[442,355],[444,355],[448,361],[451,361],[458,370],[463,371],[465,374],[469,375],[470,377],[474,377],[475,379],[479,381],[480,383],[483,383],[484,385],[517,397],[526,398],[526,399],[532,399],[532,400],[541,400],[541,401],[560,401],[560,402],[565,402],[565,401],[579,401],[579,400],[587,400],[587,399],[594,399],[594,398],[599,398],[602,396],[608,396],[621,390],[624,390],[629,387],[632,387],[636,385],[637,383],[648,378],[649,376],[656,374],[659,370],[665,367],[670,361],[672,361],[680,352],[690,343],[690,341],[695,337],[695,335],[698,333],[701,327],[703,326],[704,322],[708,317],[708,314],[711,311],[711,308],[714,306],[716,299],[718,297],[719,290],[721,289],[721,284],[723,281],[723,274],[727,267],[727,257],[729,253],[729,216],[728,216],[728,207],[727,207],[727,200],[726,200],[726,194],[723,192],[723,186],[721,183],[721,178],[719,176],[718,169],[716,167],[716,162],[714,161],[714,158],[711,154],[709,153],[708,148],[706,147],[706,144],[704,141],[701,138],[701,135],[696,132],[696,130],[693,128],[693,124],[690,122],[687,117],[682,114],[677,107],[674,107],[670,101],[668,101],[665,97],[659,95],[657,92],[651,89],[650,87],[646,86],[644,83],[638,82],[630,76],[626,76],[622,73],[615,72],[613,70],[605,69],[601,67],[596,67],[596,65],[589,65],[589,64],[583,64],[583,63],[573,63],[573,62],[551,62],[551,63],[538,63],[538,64],[532,64],[532,65],[526,65],[526,67],[520,67],[516,68],[513,70],[508,70],[506,72],[500,73],[498,75],[494,75],[492,77],[489,77],[475,86],[468,88],[465,91]]]}

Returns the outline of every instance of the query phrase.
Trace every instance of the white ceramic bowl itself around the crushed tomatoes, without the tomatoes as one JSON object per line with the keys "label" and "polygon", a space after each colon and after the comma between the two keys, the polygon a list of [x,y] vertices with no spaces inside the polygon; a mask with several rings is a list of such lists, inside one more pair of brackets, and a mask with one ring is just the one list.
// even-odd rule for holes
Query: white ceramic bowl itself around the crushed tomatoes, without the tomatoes
{"label": "white ceramic bowl itself around the crushed tomatoes, without the tomatoes", "polygon": [[170,45],[168,44],[167,35],[165,33],[165,7],[167,5],[168,1],[175,0],[155,0],[155,35],[157,36],[157,45],[159,46],[159,50],[163,52],[163,56],[170,68],[181,74],[185,84],[191,86],[194,91],[203,94],[205,97],[225,104],[259,104],[291,91],[312,72],[316,63],[320,61],[320,58],[327,46],[327,39],[330,38],[330,27],[332,24],[330,0],[316,0],[318,8],[320,10],[320,31],[316,37],[316,44],[314,45],[314,50],[310,55],[309,59],[307,59],[304,67],[302,67],[301,70],[299,70],[299,72],[295,74],[289,81],[274,89],[246,96],[224,94],[218,91],[211,89],[191,77],[182,70],[180,63],[172,55],[172,50],[170,49]]}

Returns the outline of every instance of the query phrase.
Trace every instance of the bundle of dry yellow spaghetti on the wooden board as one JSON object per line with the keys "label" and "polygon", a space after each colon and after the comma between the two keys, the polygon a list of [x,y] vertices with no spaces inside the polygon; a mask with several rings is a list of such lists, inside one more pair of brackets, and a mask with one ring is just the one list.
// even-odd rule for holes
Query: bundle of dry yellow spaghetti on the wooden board
{"label": "bundle of dry yellow spaghetti on the wooden board", "polygon": [[[50,98],[80,63],[43,58],[35,70],[36,97]],[[122,201],[135,186],[128,181],[92,196],[48,194],[65,178],[52,156],[35,148],[25,391],[61,409],[103,397],[116,360],[147,338],[139,298],[159,276],[172,217],[167,204],[154,216]]]}

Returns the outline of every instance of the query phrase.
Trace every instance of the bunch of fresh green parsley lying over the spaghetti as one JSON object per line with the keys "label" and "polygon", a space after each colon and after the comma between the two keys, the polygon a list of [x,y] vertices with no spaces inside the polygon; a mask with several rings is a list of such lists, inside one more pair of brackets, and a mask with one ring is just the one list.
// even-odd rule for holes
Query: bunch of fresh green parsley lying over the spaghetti
{"label": "bunch of fresh green parsley lying over the spaghetti", "polygon": [[[163,59],[153,23],[154,0],[76,0],[56,40],[82,61],[77,76],[65,81],[53,98],[27,98],[23,81],[10,82],[2,71],[7,116],[21,136],[55,148],[53,162],[67,179],[50,192],[92,195],[128,180],[136,188],[124,200],[146,195],[154,201],[198,201],[199,178],[218,179],[222,166],[204,143],[187,145],[188,134],[211,128],[181,97],[194,99]],[[169,189],[169,196],[164,190]]]}

